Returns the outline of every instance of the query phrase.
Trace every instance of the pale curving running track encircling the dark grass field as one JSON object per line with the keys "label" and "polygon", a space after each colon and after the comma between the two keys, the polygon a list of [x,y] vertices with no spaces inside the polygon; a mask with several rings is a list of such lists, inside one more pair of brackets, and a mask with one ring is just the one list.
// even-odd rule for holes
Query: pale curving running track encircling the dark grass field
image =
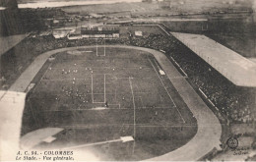
{"label": "pale curving running track encircling the dark grass field", "polygon": [[[94,46],[61,48],[42,53],[34,59],[31,66],[14,82],[9,90],[24,92],[49,56],[67,50],[92,47]],[[222,127],[218,118],[165,55],[159,51],[143,47],[123,45],[108,45],[106,47],[137,49],[152,53],[197,120],[198,132],[190,141],[169,153],[146,161],[196,161],[213,148],[219,147]]]}

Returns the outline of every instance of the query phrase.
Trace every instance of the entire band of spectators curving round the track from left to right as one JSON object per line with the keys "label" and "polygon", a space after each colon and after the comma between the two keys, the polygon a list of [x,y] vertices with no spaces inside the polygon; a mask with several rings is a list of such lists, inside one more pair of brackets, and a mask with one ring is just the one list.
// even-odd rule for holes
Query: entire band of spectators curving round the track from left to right
{"label": "entire band of spectators curving round the track from left to right", "polygon": [[52,35],[28,37],[3,55],[1,62],[4,64],[1,64],[1,76],[5,80],[1,82],[1,88],[3,88],[4,84],[11,84],[15,81],[38,54],[56,48],[104,43],[142,46],[165,51],[165,54],[172,56],[185,71],[189,80],[201,88],[228,119],[242,123],[249,123],[254,120],[252,105],[255,94],[253,94],[251,88],[237,87],[227,81],[174,37],[167,37],[162,34],[151,33],[148,36],[130,36],[107,40],[86,38],[79,40],[55,39]]}

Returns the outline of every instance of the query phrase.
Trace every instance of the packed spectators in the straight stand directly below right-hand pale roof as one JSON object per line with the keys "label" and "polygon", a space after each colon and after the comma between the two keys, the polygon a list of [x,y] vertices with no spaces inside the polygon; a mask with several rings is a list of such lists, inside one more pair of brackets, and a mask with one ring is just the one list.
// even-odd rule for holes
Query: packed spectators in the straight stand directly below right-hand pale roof
{"label": "packed spectators in the straight stand directly below right-hand pale roof", "polygon": [[255,89],[234,85],[184,45],[176,43],[169,55],[229,120],[254,121]]}

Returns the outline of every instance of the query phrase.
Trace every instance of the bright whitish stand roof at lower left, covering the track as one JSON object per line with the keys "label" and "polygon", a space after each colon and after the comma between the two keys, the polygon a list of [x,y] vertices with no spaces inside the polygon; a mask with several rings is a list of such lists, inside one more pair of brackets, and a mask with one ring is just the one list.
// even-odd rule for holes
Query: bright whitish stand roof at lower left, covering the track
{"label": "bright whitish stand roof at lower left, covering the track", "polygon": [[[19,151],[26,93],[0,90],[1,160],[13,161]],[[13,157],[12,157],[13,156]]]}

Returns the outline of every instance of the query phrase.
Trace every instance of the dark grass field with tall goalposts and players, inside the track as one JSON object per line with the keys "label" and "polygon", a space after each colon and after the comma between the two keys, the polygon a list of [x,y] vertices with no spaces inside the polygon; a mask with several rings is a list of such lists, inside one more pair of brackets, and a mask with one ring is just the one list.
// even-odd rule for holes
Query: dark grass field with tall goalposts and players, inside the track
{"label": "dark grass field with tall goalposts and players, inside the track", "polygon": [[[41,128],[64,131],[39,146],[92,143],[83,149],[100,160],[142,160],[176,149],[196,134],[195,118],[160,75],[152,54],[100,47],[53,58],[32,81],[22,135]],[[134,141],[109,141],[121,136]]]}

